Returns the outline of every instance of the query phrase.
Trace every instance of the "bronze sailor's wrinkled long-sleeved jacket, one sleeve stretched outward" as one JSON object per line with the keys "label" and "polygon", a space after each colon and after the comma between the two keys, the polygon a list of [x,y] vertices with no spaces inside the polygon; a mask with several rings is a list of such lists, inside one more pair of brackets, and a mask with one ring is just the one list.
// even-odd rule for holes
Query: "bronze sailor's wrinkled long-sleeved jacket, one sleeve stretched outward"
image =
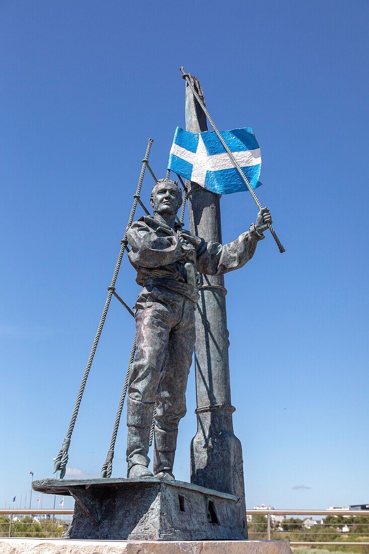
{"label": "bronze sailor's wrinkled long-sleeved jacket, one sleeve stretched outward", "polygon": [[258,241],[264,238],[253,224],[229,244],[201,239],[195,248],[180,240],[177,232],[181,228],[181,224],[176,224],[173,230],[152,217],[141,217],[127,231],[131,247],[128,255],[137,270],[137,284],[164,287],[194,304],[198,300],[198,286],[187,283],[186,263],[191,262],[199,273],[222,275],[242,268],[253,257]]}

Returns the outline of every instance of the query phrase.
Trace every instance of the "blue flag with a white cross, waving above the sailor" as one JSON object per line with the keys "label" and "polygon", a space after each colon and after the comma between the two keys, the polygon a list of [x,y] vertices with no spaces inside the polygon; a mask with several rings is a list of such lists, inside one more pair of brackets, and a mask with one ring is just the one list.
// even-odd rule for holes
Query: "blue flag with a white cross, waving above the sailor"
{"label": "blue flag with a white cross, waving above the sailor", "polygon": [[[260,186],[262,155],[251,127],[221,131],[250,186]],[[177,127],[168,169],[217,194],[247,191],[234,163],[214,131],[191,133]]]}

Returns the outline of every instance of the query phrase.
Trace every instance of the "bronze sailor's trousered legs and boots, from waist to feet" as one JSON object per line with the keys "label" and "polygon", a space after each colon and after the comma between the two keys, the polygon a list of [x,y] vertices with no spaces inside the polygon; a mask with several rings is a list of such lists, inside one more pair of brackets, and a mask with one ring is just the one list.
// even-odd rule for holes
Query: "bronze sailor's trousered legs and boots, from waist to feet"
{"label": "bronze sailor's trousered legs and boots, from waist to feet", "polygon": [[[186,414],[186,387],[195,343],[194,304],[159,286],[142,289],[136,302],[137,352],[127,400],[127,462],[148,465],[148,438],[155,402],[155,450],[160,465],[172,466],[178,423]],[[155,457],[160,458],[155,452]],[[172,469],[172,467],[170,468]]]}

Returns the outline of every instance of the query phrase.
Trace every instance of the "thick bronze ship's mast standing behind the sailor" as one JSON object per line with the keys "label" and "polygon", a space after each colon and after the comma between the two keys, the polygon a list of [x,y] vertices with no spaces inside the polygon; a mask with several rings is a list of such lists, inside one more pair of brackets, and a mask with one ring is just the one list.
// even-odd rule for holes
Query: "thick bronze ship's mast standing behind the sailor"
{"label": "thick bronze ship's mast standing behind the sailor", "polygon": [[[202,95],[201,85],[193,78]],[[186,85],[186,131],[207,131],[206,115]],[[188,182],[191,233],[222,243],[219,194]],[[196,192],[195,192],[196,191]],[[247,538],[242,447],[233,430],[224,275],[203,275],[195,311],[196,435],[191,441],[191,483],[237,497],[238,521]]]}

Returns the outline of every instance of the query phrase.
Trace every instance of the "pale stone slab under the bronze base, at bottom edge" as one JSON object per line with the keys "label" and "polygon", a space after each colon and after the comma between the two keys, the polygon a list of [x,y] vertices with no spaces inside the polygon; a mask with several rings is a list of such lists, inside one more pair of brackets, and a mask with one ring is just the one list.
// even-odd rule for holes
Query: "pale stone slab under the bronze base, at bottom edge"
{"label": "pale stone slab under the bronze base, at bottom edge", "polygon": [[0,538],[0,554],[292,554],[288,541],[73,541]]}

